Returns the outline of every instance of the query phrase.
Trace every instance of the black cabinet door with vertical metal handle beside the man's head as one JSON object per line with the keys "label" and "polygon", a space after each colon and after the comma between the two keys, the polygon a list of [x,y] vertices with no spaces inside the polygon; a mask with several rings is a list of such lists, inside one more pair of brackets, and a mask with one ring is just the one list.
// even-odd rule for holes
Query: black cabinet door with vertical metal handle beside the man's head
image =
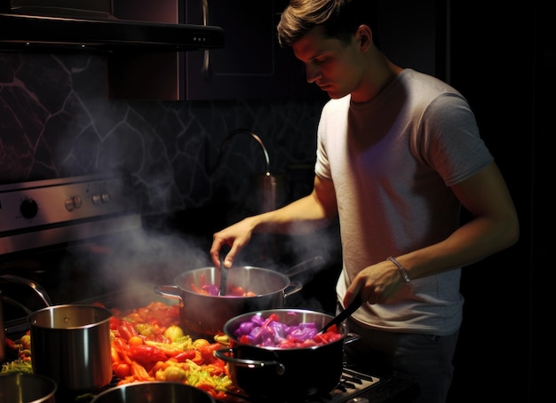
{"label": "black cabinet door with vertical metal handle beside the man's head", "polygon": [[[201,1],[188,1],[187,23],[202,23]],[[305,67],[278,44],[285,0],[209,0],[208,23],[224,28],[222,49],[187,52],[187,99],[299,98],[322,95]]]}

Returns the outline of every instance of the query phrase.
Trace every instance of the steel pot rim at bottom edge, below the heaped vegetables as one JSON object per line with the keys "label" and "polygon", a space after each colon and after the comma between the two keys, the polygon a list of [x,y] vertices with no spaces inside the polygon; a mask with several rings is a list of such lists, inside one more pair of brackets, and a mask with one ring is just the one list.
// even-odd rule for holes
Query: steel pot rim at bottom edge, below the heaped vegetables
{"label": "steel pot rim at bottom edge, below the heaped vegetables", "polygon": [[137,382],[100,392],[91,403],[215,403],[209,393],[186,383]]}

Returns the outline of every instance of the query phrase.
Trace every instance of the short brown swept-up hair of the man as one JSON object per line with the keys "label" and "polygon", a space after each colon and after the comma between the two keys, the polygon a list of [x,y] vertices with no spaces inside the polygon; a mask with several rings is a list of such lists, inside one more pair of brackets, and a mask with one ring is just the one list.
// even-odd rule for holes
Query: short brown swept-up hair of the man
{"label": "short brown swept-up hair of the man", "polygon": [[326,36],[348,43],[361,24],[371,27],[373,10],[372,0],[290,0],[278,23],[278,42],[291,46],[322,26]]}

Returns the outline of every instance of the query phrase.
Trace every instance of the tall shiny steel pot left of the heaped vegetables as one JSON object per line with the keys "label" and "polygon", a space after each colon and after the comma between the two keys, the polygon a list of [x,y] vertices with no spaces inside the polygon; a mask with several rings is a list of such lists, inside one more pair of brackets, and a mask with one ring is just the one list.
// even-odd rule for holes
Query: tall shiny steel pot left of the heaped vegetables
{"label": "tall shiny steel pot left of the heaped vegetables", "polygon": [[94,391],[112,379],[110,318],[89,304],[53,305],[28,317],[33,373],[62,391]]}

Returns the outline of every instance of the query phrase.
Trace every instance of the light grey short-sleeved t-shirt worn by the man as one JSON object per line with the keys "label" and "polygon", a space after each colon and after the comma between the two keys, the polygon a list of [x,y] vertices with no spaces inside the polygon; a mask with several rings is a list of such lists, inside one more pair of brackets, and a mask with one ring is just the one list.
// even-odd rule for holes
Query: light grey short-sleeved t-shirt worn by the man
{"label": "light grey short-sleeved t-shirt worn by the man", "polygon": [[[338,198],[339,300],[361,269],[453,233],[461,206],[449,186],[492,161],[464,97],[430,75],[405,69],[364,104],[330,99],[315,172],[333,181]],[[410,281],[385,304],[363,304],[353,318],[393,332],[449,335],[462,320],[460,274],[455,268]]]}

